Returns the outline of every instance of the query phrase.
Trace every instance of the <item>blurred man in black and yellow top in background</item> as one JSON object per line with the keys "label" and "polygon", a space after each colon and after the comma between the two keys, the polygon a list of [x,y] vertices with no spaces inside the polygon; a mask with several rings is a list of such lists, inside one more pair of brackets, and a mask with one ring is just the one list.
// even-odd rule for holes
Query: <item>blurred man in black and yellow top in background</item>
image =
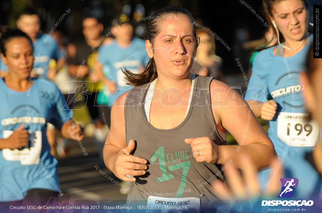
{"label": "blurred man in black and yellow top in background", "polygon": [[[99,85],[99,78],[95,73],[94,66],[97,61],[98,47],[101,44],[100,39],[103,38],[101,36],[101,33],[103,31],[103,24],[99,23],[99,21],[95,17],[86,17],[83,19],[82,27],[84,40],[76,45],[76,54],[75,57],[71,60],[71,64],[69,65],[68,69],[70,75],[74,79],[77,79],[77,81],[91,81],[93,83],[93,88],[90,88],[90,84],[87,84],[87,89],[92,89],[92,94],[88,96],[86,106],[95,127],[92,126],[93,124],[88,124],[86,126],[86,129],[94,129],[93,131],[90,130],[90,132],[93,134],[95,144],[97,145],[104,143],[107,136],[107,131],[103,127],[103,123],[100,121],[101,117],[99,116],[98,107],[94,106],[95,98],[97,95],[96,90]],[[67,102],[70,102],[71,98],[73,97],[69,97],[69,100]],[[103,147],[97,146],[97,148],[101,162],[103,162],[101,154],[103,152]]]}

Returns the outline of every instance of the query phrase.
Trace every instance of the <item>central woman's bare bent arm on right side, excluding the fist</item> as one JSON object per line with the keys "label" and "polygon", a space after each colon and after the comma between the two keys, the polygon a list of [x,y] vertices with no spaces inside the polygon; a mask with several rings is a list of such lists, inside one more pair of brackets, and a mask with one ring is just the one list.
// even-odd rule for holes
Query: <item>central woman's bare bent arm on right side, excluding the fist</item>
{"label": "central woman's bare bent arm on right side, excluding the fist", "polygon": [[[220,88],[220,89],[219,89]],[[219,146],[219,164],[232,159],[241,168],[241,154],[247,154],[257,169],[268,166],[276,155],[274,145],[257,121],[247,102],[233,89],[220,81],[213,80],[210,85],[213,116],[219,114],[217,128],[224,128],[232,134],[239,145]],[[220,106],[220,110],[218,107]]]}

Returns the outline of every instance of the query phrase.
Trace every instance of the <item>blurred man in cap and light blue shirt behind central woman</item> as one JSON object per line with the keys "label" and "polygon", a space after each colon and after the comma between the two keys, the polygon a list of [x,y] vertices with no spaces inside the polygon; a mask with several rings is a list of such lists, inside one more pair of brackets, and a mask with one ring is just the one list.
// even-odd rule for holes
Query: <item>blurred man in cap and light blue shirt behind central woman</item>
{"label": "blurred man in cap and light blue shirt behind central woman", "polygon": [[[128,91],[131,86],[124,81],[122,68],[126,67],[132,73],[140,73],[149,61],[145,42],[140,38],[133,38],[133,27],[125,14],[117,16],[112,21],[111,32],[115,40],[99,48],[97,73],[105,88],[100,91],[97,103],[102,115],[105,115],[106,124],[110,127],[111,106],[116,98]],[[106,135],[107,136],[107,135]],[[106,139],[106,137],[105,137]],[[104,141],[105,142],[105,141]],[[100,144],[104,147],[104,143]],[[128,187],[133,183],[126,182]],[[120,192],[127,194],[128,190],[120,188]]]}

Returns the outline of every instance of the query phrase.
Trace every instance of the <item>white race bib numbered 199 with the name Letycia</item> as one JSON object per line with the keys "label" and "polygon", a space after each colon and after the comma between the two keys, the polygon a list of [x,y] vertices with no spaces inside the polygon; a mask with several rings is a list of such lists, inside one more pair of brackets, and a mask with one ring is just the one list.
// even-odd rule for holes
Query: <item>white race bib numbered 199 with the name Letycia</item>
{"label": "white race bib numbered 199 with the name Letycia", "polygon": [[277,136],[294,147],[313,147],[319,141],[320,128],[316,121],[306,122],[307,113],[281,112],[277,118]]}

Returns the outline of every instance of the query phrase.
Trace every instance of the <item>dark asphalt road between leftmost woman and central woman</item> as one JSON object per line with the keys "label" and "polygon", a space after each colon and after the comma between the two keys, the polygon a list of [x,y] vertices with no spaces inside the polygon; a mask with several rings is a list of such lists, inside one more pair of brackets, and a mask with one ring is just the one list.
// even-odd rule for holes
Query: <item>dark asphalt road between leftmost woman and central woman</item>
{"label": "dark asphalt road between leftmost woman and central woman", "polygon": [[109,180],[109,177],[118,180],[119,183],[121,181],[99,162],[94,140],[85,137],[82,141],[87,156],[83,155],[76,141],[69,142],[71,146],[69,155],[58,159],[61,190],[68,192],[71,200],[123,200],[121,202],[125,203],[127,195],[121,194],[120,186]]}

